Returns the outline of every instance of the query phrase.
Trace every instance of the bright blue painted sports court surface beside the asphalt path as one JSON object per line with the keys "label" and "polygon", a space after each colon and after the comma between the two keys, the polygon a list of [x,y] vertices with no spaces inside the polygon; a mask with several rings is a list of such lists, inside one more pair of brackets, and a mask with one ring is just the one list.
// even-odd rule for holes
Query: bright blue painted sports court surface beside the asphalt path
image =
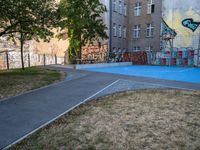
{"label": "bright blue painted sports court surface beside the asphalt path", "polygon": [[86,68],[84,70],[200,83],[200,68],[134,65],[107,68]]}

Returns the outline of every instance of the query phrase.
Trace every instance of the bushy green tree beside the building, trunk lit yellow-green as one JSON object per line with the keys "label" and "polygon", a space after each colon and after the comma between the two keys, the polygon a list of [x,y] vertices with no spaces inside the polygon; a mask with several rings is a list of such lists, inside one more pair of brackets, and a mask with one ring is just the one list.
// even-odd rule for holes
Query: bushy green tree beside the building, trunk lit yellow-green
{"label": "bushy green tree beside the building, trunk lit yellow-green", "polygon": [[61,0],[59,11],[62,18],[59,26],[68,30],[69,57],[81,59],[83,46],[108,38],[101,17],[107,10],[99,0]]}

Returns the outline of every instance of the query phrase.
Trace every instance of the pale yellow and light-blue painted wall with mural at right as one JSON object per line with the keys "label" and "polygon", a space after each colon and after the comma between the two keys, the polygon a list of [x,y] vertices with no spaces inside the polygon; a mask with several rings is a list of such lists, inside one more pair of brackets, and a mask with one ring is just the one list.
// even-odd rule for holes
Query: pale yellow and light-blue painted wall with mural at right
{"label": "pale yellow and light-blue painted wall with mural at right", "polygon": [[[162,18],[177,33],[174,47],[199,47],[200,21],[199,0],[163,0]],[[187,19],[188,18],[188,19]],[[192,18],[192,19],[191,19]],[[190,30],[186,30],[186,27]]]}

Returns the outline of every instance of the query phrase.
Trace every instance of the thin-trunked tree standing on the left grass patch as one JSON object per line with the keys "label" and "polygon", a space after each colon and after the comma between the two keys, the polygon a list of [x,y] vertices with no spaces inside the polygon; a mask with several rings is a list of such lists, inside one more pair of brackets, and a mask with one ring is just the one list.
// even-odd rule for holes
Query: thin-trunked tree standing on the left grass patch
{"label": "thin-trunked tree standing on the left grass patch", "polygon": [[20,41],[24,69],[24,42],[50,39],[57,20],[57,5],[54,0],[0,0],[0,3],[0,36]]}

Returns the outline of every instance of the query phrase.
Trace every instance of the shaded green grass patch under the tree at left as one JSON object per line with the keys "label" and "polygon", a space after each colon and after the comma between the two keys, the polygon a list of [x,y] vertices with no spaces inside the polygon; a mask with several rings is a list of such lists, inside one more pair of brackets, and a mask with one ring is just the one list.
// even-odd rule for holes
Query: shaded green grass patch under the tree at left
{"label": "shaded green grass patch under the tree at left", "polygon": [[49,85],[64,76],[64,73],[38,67],[0,71],[0,99]]}

